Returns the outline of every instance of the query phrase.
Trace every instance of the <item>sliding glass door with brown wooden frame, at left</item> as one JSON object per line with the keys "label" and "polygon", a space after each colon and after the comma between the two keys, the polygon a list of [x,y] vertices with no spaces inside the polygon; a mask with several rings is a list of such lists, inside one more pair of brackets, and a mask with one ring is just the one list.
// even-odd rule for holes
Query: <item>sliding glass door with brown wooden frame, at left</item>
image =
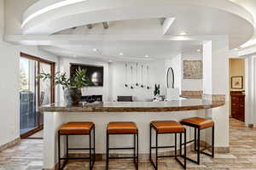
{"label": "sliding glass door with brown wooden frame, at left", "polygon": [[38,80],[40,73],[55,74],[55,63],[20,53],[20,138],[27,138],[44,128],[40,105],[55,102],[53,80]]}

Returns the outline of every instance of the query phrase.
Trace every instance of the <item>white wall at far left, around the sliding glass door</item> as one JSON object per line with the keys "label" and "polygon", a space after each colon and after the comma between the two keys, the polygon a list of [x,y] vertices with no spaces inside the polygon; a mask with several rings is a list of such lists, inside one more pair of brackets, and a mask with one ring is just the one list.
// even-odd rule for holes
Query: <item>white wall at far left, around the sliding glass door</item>
{"label": "white wall at far left, around the sliding glass door", "polygon": [[[45,53],[35,47],[15,46],[3,42],[4,34],[4,1],[0,0],[0,146],[20,137],[20,52],[49,59],[58,62],[54,55]],[[10,1],[6,1],[10,2]],[[16,6],[22,6],[22,3],[12,1]],[[8,13],[13,11],[8,11]],[[9,18],[8,15],[5,16]],[[11,19],[10,19],[11,20]],[[58,68],[58,64],[56,65]],[[58,98],[58,93],[56,95]]]}

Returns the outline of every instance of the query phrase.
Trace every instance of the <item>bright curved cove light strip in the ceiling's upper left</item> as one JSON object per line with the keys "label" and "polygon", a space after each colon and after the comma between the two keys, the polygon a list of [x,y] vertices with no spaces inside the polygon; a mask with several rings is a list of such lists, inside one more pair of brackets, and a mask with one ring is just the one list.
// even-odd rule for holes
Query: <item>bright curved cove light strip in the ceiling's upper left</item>
{"label": "bright curved cove light strip in the ceiling's upper left", "polygon": [[24,20],[22,22],[22,25],[21,25],[21,28],[23,26],[26,25],[27,22],[29,22],[30,20],[32,20],[33,18],[37,17],[38,15],[40,14],[44,14],[44,13],[47,13],[51,10],[54,10],[55,8],[61,8],[61,7],[65,7],[67,5],[70,5],[70,4],[74,4],[74,3],[81,3],[81,2],[84,2],[84,1],[87,1],[87,0],[64,0],[64,1],[61,1],[59,3],[54,3],[52,5],[49,5],[48,7],[45,7],[45,8],[42,8],[42,9],[39,9],[38,11],[36,11],[35,13],[33,14],[30,14],[26,20]]}

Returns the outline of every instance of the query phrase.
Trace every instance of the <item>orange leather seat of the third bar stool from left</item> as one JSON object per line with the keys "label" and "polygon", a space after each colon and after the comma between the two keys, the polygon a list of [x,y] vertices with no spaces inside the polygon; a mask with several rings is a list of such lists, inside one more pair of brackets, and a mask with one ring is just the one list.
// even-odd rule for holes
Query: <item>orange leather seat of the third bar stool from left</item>
{"label": "orange leather seat of the third bar stool from left", "polygon": [[185,127],[176,121],[154,121],[150,122],[157,133],[183,133]]}

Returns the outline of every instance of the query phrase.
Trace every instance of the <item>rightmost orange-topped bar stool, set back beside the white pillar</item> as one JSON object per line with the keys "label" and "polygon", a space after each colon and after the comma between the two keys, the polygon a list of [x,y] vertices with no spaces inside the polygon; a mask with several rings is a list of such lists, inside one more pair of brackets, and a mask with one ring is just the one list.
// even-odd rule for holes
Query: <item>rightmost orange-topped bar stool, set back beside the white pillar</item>
{"label": "rightmost orange-topped bar stool, set back beside the white pillar", "polygon": [[[188,119],[183,119],[181,124],[189,126],[189,127],[194,127],[195,128],[195,140],[192,140],[190,142],[194,141],[194,147],[195,151],[197,152],[197,161],[190,159],[189,157],[187,158],[189,161],[193,161],[200,165],[200,153],[205,154],[207,156],[212,156],[214,157],[214,122],[211,119],[205,119],[201,117],[192,117]],[[200,149],[200,141],[201,141],[201,130],[207,129],[212,127],[212,146],[204,148],[203,150]],[[196,136],[196,129],[197,129],[197,136]],[[196,148],[197,145],[197,148]],[[204,150],[207,150],[209,148],[212,148],[212,154],[208,154],[204,152]]]}

